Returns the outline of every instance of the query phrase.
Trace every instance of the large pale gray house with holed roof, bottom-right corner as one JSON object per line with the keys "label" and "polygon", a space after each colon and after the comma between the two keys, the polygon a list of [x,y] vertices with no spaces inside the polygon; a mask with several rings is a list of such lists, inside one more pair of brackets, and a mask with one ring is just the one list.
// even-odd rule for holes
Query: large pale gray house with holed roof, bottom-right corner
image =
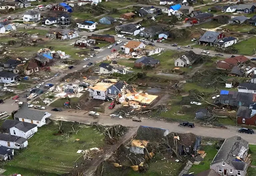
{"label": "large pale gray house with holed roof, bottom-right corner", "polygon": [[221,175],[246,176],[250,161],[248,141],[236,135],[225,139],[210,168]]}

